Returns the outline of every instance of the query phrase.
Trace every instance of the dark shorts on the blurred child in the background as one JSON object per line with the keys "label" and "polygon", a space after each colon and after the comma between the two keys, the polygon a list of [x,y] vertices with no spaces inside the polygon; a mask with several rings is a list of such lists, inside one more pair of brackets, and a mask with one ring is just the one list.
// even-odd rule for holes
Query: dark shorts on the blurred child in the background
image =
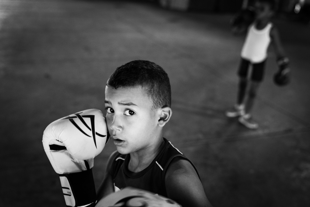
{"label": "dark shorts on the blurred child in the background", "polygon": [[252,64],[250,61],[241,58],[238,75],[246,78],[248,76],[249,66],[252,65],[251,80],[263,81],[266,60],[260,63]]}

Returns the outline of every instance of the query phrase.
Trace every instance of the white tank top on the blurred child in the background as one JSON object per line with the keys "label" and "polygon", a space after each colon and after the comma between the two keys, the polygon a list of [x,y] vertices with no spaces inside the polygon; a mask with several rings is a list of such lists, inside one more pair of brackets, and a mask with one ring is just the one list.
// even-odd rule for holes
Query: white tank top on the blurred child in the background
{"label": "white tank top on the blurred child in the background", "polygon": [[262,30],[257,30],[254,24],[250,25],[241,50],[241,58],[251,63],[263,62],[267,58],[267,49],[270,43],[272,23],[268,23]]}

